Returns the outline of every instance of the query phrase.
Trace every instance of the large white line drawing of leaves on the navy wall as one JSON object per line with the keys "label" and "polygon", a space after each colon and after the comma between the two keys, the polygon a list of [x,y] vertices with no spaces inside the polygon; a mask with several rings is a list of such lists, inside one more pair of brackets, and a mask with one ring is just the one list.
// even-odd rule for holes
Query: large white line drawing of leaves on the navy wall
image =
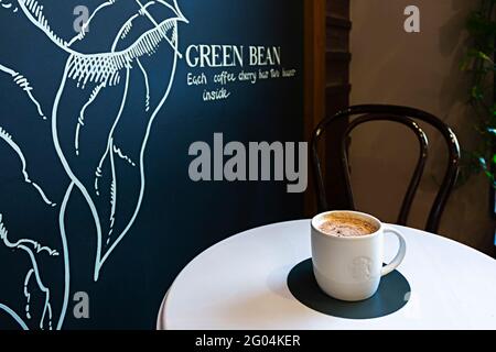
{"label": "large white line drawing of leaves on the navy wall", "polygon": [[[87,231],[88,237],[96,238],[96,253],[91,254],[93,279],[98,282],[105,263],[129,234],[139,216],[147,182],[147,144],[153,122],[170,96],[177,62],[182,58],[180,23],[188,21],[177,0],[103,0],[80,33],[65,40],[52,29],[45,14],[50,1],[0,0],[0,11],[29,21],[32,31],[43,33],[67,57],[65,67],[61,67],[63,75],[54,91],[51,111],[45,111],[46,108],[36,100],[29,77],[15,67],[0,62],[0,79],[11,79],[12,89],[21,89],[26,103],[33,105],[39,118],[51,124],[53,144],[47,147],[55,150],[68,178],[68,186],[64,185],[66,188],[62,193],[64,196],[52,199],[44,191],[43,179],[32,177],[30,161],[15,135],[0,125],[0,146],[12,151],[22,167],[23,182],[46,207],[58,212],[60,231],[58,248],[52,249],[32,239],[11,241],[11,237],[18,239],[19,235],[9,233],[9,219],[2,216],[3,205],[0,204],[0,248],[15,250],[15,255],[23,255],[30,263],[23,278],[24,287],[21,287],[24,309],[19,311],[2,301],[0,290],[0,316],[13,319],[22,329],[61,329],[68,310],[74,270],[67,241],[71,237],[66,229],[66,219],[71,216],[67,205],[73,197],[83,197],[90,211],[93,223],[87,224]],[[94,33],[91,23],[107,21],[116,7],[125,8],[128,15],[110,34],[114,41],[101,51],[88,51],[91,35],[101,34]],[[91,30],[87,31],[87,26]],[[153,75],[150,75],[151,69]],[[142,89],[131,89],[138,86]],[[137,94],[140,91],[143,94]],[[141,106],[137,108],[139,103]],[[46,273],[39,261],[41,255],[53,257],[63,265],[63,293],[53,295],[52,287],[46,284]],[[43,296],[41,307],[35,306],[33,286],[36,296]],[[54,301],[54,296],[63,297],[62,301]]]}

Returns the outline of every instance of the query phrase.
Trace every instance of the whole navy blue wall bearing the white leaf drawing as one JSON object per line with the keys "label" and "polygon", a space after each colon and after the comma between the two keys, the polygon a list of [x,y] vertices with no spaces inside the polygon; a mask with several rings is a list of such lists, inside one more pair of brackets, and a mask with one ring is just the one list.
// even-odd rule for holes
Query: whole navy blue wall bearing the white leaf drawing
{"label": "whole navy blue wall bearing the white leaf drawing", "polygon": [[[215,132],[225,142],[302,140],[302,1],[166,1],[190,22],[174,22],[180,53],[192,44],[280,46],[281,66],[296,69],[292,78],[231,84],[230,97],[214,102],[202,94],[218,85],[187,86],[188,73],[211,77],[250,67],[192,68],[177,58],[173,72],[173,45],[164,38],[139,57],[142,68],[133,56],[93,78],[80,74],[78,82],[84,55],[110,55],[122,21],[139,11],[136,1],[118,0],[95,16],[84,38],[57,45],[55,35],[68,42],[77,34],[73,10],[80,2],[91,12],[104,0],[39,1],[45,32],[23,11],[35,3],[0,8],[0,329],[154,328],[163,295],[195,255],[236,232],[302,217],[302,196],[288,194],[285,182],[188,177],[190,145],[212,144]],[[158,23],[177,15],[157,6],[149,12]],[[151,29],[140,16],[114,54]],[[74,317],[77,292],[88,294],[89,319]]]}

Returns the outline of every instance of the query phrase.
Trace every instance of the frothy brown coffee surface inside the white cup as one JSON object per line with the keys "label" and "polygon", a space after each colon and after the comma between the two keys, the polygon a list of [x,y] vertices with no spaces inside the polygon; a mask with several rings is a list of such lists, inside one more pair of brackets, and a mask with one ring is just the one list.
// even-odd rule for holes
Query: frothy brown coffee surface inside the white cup
{"label": "frothy brown coffee surface inside the white cup", "polygon": [[379,228],[367,220],[348,215],[328,215],[319,224],[319,230],[337,238],[357,238],[373,234]]}

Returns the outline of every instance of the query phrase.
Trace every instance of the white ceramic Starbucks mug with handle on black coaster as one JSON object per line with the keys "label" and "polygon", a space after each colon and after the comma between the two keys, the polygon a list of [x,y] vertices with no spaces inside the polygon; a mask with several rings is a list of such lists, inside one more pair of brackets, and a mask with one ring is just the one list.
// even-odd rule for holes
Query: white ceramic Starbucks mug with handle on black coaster
{"label": "white ceramic Starbucks mug with handle on black coaster", "polygon": [[[335,237],[319,230],[331,215],[365,220],[377,231],[360,237]],[[399,250],[392,262],[384,264],[384,235],[392,233],[399,240]],[[328,211],[312,219],[312,262],[316,282],[324,293],[341,300],[356,301],[370,298],[379,288],[380,278],[401,264],[407,244],[401,233],[386,227],[373,216],[357,211]]]}

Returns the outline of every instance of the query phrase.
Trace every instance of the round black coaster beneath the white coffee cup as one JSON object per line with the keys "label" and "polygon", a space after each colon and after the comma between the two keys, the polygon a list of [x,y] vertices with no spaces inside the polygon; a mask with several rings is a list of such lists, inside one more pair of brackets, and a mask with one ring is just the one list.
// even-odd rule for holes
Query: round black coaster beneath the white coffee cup
{"label": "round black coaster beneath the white coffee cup", "polygon": [[371,319],[400,310],[410,299],[410,284],[393,271],[380,280],[377,293],[367,300],[343,301],[324,294],[313,274],[312,258],[294,266],[288,276],[291,294],[306,307],[328,316],[348,319]]}

